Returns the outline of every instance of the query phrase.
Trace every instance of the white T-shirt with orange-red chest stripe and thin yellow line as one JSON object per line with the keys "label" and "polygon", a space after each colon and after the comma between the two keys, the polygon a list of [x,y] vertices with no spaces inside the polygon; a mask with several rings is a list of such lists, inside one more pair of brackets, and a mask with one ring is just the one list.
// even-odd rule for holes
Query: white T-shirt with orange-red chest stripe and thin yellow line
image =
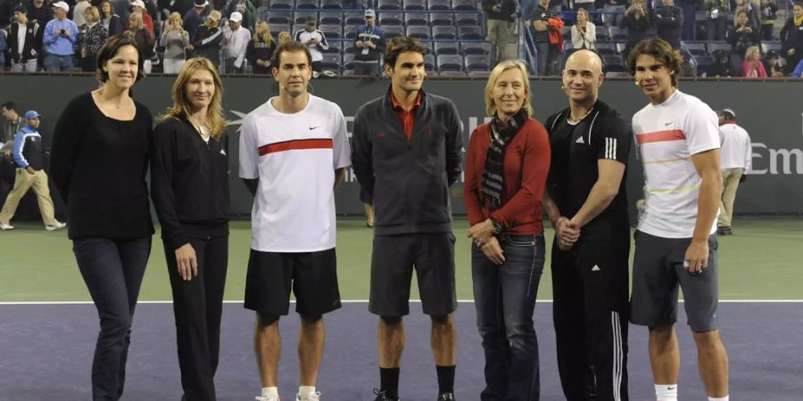
{"label": "white T-shirt with orange-red chest stripe and thin yellow line", "polygon": [[[700,99],[675,90],[665,102],[633,115],[633,134],[644,165],[644,209],[639,231],[691,238],[702,179],[691,155],[719,148],[718,119]],[[716,232],[715,224],[711,232]]]}

